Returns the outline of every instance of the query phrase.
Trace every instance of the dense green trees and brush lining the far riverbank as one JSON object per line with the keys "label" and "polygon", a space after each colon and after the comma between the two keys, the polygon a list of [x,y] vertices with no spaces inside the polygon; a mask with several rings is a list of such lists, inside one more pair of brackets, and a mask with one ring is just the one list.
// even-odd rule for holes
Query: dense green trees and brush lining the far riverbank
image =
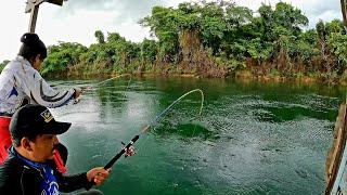
{"label": "dense green trees and brush lining the far riverbank", "polygon": [[76,42],[49,47],[42,74],[347,80],[343,23],[320,21],[314,29],[308,29],[303,12],[284,2],[262,4],[257,12],[223,1],[154,6],[152,14],[139,23],[151,29],[153,40],[134,43],[117,32],[105,36],[97,30],[97,43],[89,48]]}

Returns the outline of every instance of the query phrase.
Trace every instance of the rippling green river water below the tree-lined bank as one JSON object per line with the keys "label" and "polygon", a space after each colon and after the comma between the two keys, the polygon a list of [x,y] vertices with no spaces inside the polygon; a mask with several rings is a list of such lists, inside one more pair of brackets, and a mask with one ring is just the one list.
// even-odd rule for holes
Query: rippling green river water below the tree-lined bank
{"label": "rippling green river water below the tree-lined bank", "polygon": [[[52,80],[62,88],[101,80]],[[323,194],[343,87],[223,79],[121,78],[52,110],[68,172],[105,165],[176,99],[188,95],[121,157],[99,188],[108,194]]]}

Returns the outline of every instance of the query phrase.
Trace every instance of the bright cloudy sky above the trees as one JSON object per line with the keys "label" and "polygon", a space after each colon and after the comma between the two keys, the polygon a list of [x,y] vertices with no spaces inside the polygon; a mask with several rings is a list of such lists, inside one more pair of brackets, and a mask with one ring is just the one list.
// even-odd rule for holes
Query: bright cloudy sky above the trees
{"label": "bright cloudy sky above the trees", "polygon": [[[95,42],[94,31],[117,31],[127,40],[141,42],[150,38],[149,29],[138,22],[151,14],[154,5],[177,6],[181,2],[198,0],[68,0],[63,6],[42,3],[36,32],[47,44],[59,41]],[[280,0],[233,0],[237,5],[256,11],[261,2],[274,5]],[[319,20],[342,20],[339,0],[282,0],[300,9],[309,18],[309,27]],[[24,13],[26,0],[2,0],[0,6],[0,62],[12,60],[18,53],[21,36],[28,30],[29,14]]]}

